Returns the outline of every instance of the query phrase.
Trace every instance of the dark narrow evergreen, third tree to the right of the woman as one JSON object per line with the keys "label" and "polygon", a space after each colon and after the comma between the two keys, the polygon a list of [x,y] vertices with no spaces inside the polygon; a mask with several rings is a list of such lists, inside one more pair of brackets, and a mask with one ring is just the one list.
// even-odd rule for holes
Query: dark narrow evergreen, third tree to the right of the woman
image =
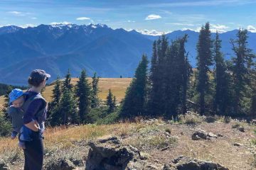
{"label": "dark narrow evergreen, third tree to the right of the woman", "polygon": [[91,105],[91,87],[86,79],[87,75],[85,72],[85,69],[82,70],[78,84],[76,86],[76,95],[78,96],[78,107],[79,107],[79,115],[80,115],[80,121],[82,123],[89,122],[87,119],[87,115],[90,111],[90,105]]}

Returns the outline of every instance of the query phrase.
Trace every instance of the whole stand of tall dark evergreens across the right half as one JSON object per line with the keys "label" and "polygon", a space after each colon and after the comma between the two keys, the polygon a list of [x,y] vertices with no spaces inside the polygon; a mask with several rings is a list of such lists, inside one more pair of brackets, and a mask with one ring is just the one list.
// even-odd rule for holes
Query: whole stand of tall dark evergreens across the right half
{"label": "whole stand of tall dark evergreens across the right half", "polygon": [[211,39],[210,23],[198,37],[197,67],[188,62],[188,35],[167,40],[162,35],[152,49],[151,68],[142,56],[127,89],[121,118],[137,116],[177,120],[179,114],[255,116],[255,55],[247,44],[247,30],[240,29],[230,40],[234,56],[225,60],[218,32]]}

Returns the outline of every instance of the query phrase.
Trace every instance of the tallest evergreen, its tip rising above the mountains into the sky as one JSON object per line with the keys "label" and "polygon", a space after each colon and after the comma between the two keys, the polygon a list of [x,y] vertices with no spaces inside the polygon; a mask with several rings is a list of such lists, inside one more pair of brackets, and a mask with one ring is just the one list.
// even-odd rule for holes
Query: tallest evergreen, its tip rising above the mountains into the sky
{"label": "tallest evergreen, its tip rising above the mountains into the sky", "polygon": [[210,87],[208,73],[210,72],[210,66],[213,64],[213,42],[210,39],[210,23],[202,26],[196,47],[198,52],[196,57],[198,69],[197,91],[199,94],[200,114],[204,115],[206,113],[206,95]]}

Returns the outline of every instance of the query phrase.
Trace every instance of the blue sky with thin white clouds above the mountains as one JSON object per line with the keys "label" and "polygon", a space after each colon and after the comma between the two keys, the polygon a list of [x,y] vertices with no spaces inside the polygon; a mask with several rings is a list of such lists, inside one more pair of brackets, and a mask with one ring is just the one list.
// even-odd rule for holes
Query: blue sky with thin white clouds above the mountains
{"label": "blue sky with thin white clouds above the mountains", "polygon": [[127,30],[199,30],[210,22],[225,32],[256,32],[256,0],[0,0],[0,26],[104,23]]}

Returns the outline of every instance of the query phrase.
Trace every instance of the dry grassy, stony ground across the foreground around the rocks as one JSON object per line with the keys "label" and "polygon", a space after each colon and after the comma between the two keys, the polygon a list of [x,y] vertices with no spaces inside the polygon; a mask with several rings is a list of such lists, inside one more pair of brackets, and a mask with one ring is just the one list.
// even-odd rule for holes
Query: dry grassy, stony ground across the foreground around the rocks
{"label": "dry grassy, stony ground across the foreground around the rocks", "polygon": [[[117,123],[114,125],[81,125],[70,128],[48,128],[45,133],[45,162],[65,157],[86,160],[89,147],[87,142],[102,135],[117,135],[125,145],[133,145],[141,152],[148,153],[150,160],[161,164],[184,155],[198,159],[218,162],[230,170],[255,169],[255,125],[244,124],[245,132],[232,128],[232,123],[200,123],[195,127],[186,124],[170,125],[161,120],[154,123],[138,120],[136,123]],[[214,140],[191,140],[195,129],[221,134]],[[166,135],[166,132],[171,134]],[[235,147],[234,142],[242,144]],[[23,164],[23,154],[17,149],[17,140],[0,139],[0,157],[6,162],[17,162],[11,169]],[[166,149],[164,149],[166,148]],[[164,150],[163,150],[164,149]]]}

